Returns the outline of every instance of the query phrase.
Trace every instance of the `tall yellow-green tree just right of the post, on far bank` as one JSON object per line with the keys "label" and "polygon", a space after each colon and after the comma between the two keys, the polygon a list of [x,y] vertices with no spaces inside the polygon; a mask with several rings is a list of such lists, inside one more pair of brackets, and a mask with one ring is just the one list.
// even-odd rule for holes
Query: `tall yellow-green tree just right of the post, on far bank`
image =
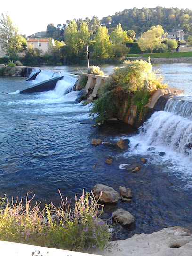
{"label": "tall yellow-green tree just right of the post, on far bank", "polygon": [[111,42],[109,40],[108,29],[100,26],[97,29],[95,36],[95,51],[96,58],[104,59],[109,56]]}

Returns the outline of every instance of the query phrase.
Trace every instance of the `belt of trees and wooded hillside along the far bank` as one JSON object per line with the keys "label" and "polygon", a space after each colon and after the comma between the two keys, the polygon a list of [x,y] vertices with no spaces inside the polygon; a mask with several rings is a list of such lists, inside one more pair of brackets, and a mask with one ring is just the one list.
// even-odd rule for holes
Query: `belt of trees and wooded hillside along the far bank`
{"label": "belt of trees and wooded hillside along the far bank", "polygon": [[[154,40],[152,30],[161,27],[159,42]],[[50,23],[45,37],[54,38],[55,46],[49,44],[46,54],[38,49],[27,48],[26,57],[21,60],[24,65],[38,64],[86,64],[86,45],[88,45],[91,65],[120,62],[130,53],[165,52],[177,47],[175,42],[162,43],[165,32],[183,29],[188,32],[188,45],[192,45],[192,11],[188,8],[142,8],[126,9],[115,15],[99,20],[92,19],[67,20],[66,24],[56,27]],[[159,30],[160,31],[160,30]],[[0,19],[0,40],[11,60],[17,60],[18,53],[26,50],[26,39],[17,34],[8,14]],[[190,35],[191,34],[191,35]],[[135,35],[139,36],[136,41]],[[142,37],[141,37],[142,36]],[[145,40],[142,40],[144,39]],[[148,41],[146,40],[148,39]],[[153,44],[153,46],[151,46]]]}

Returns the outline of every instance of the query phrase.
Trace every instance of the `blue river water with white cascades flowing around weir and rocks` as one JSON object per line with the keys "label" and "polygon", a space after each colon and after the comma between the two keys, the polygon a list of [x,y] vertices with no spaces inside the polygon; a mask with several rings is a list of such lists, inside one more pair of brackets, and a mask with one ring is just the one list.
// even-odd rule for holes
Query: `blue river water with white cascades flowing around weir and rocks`
{"label": "blue river water with white cascades flowing around weir and rocks", "polygon": [[[103,70],[110,73],[112,68]],[[165,111],[155,112],[139,131],[122,123],[91,126],[90,105],[77,103],[78,92],[72,90],[77,76],[70,73],[76,73],[76,67],[49,67],[34,81],[0,77],[0,195],[25,198],[33,191],[36,200],[59,204],[58,189],[74,198],[97,183],[117,191],[126,186],[132,190],[132,203],[106,206],[103,216],[124,208],[136,220],[129,229],[117,225],[120,232],[114,239],[173,225],[192,228],[192,64],[155,64],[154,68],[160,68],[169,86],[175,83],[184,95],[169,100]],[[56,72],[64,78],[53,91],[19,94],[60,75]],[[93,147],[92,138],[112,143],[129,138],[130,148],[121,152],[113,146]],[[108,156],[113,157],[112,165],[105,163]],[[123,168],[131,163],[141,164],[141,171]]]}

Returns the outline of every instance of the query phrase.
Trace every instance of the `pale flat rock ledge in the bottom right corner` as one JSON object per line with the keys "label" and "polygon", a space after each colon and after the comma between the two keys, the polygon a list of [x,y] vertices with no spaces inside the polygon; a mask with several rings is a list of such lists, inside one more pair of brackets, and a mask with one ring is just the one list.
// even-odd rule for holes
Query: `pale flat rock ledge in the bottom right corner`
{"label": "pale flat rock ledge in the bottom right corner", "polygon": [[152,234],[135,234],[109,244],[110,252],[97,250],[93,253],[105,256],[192,256],[191,231],[177,226]]}

